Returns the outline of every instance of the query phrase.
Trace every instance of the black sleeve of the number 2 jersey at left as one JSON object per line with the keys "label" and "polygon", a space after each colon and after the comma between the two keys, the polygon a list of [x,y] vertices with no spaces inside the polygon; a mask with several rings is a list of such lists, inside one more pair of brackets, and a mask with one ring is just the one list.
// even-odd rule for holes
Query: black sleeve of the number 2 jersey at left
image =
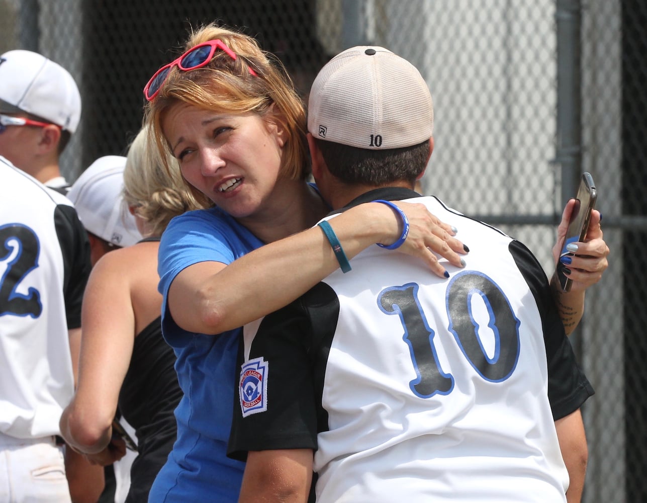
{"label": "black sleeve of the number 2 jersey at left", "polygon": [[73,207],[58,205],[54,211],[54,223],[65,269],[63,296],[65,297],[67,328],[79,328],[81,326],[83,291],[85,291],[87,278],[92,269],[90,242]]}

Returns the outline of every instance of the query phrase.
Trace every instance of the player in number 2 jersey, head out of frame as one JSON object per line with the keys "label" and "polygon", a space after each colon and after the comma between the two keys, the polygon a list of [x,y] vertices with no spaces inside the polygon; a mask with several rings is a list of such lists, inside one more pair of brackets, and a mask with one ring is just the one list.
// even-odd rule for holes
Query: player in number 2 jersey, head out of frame
{"label": "player in number 2 jersey, head out of frame", "polygon": [[[102,470],[78,456],[64,466],[57,440],[74,393],[87,236],[66,197],[1,156],[0,178],[0,501],[98,497]],[[83,486],[69,487],[81,469]]]}

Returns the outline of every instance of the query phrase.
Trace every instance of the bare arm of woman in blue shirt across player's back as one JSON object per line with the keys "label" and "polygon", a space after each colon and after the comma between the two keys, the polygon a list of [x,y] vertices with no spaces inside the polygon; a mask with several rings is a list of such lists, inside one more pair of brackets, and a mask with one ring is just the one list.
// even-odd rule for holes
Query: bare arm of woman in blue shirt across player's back
{"label": "bare arm of woman in blue shirt across player's back", "polygon": [[[431,273],[441,277],[446,269],[436,253],[456,267],[464,266],[459,254],[465,254],[466,248],[452,237],[450,226],[419,203],[398,201],[397,205],[410,222],[409,235],[399,251],[420,258]],[[349,260],[375,243],[393,243],[402,232],[400,218],[380,203],[358,205],[329,223]],[[186,267],[171,283],[168,306],[184,330],[217,334],[289,304],[338,267],[327,238],[313,227],[229,265],[200,262]]]}

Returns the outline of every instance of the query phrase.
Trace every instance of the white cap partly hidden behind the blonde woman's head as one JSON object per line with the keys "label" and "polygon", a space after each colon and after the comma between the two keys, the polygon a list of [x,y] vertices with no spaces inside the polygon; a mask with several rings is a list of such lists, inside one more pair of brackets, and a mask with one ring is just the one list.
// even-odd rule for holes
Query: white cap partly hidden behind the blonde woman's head
{"label": "white cap partly hidden behind the blonde woman's head", "polygon": [[126,157],[121,155],[99,157],[67,194],[88,232],[122,247],[142,239],[122,196],[125,167]]}

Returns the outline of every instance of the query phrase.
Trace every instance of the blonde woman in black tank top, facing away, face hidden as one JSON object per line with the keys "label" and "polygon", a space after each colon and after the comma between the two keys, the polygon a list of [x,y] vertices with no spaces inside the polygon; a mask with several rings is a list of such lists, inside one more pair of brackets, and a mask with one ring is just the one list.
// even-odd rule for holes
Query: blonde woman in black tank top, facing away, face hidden
{"label": "blonde woman in black tank top, facing away, face hidden", "polygon": [[127,502],[148,501],[176,438],[181,390],[175,355],[162,339],[157,250],[170,219],[198,207],[157,151],[148,153],[146,136],[142,129],[129,149],[123,194],[144,239],[105,254],[93,268],[83,297],[78,387],[60,421],[72,448],[107,465],[125,453],[112,425],[119,408],[138,443]]}

